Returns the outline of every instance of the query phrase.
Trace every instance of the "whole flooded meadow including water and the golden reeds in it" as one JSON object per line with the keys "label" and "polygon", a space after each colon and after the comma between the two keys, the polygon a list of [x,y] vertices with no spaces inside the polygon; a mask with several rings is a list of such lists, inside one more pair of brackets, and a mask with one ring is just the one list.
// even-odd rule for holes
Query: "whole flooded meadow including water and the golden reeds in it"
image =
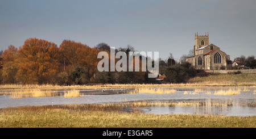
{"label": "whole flooded meadow including water and the golden reeds in it", "polygon": [[256,87],[0,90],[0,108],[69,104],[115,106],[109,110],[119,112],[256,116]]}

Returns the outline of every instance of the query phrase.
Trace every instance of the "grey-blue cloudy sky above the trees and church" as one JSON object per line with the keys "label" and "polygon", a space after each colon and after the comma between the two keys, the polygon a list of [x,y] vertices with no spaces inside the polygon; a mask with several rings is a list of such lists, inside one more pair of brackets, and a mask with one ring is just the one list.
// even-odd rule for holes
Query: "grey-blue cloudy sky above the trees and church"
{"label": "grey-blue cloudy sky above the trees and church", "polygon": [[89,47],[133,46],[170,53],[179,61],[195,33],[236,57],[256,56],[255,0],[1,0],[0,50],[36,37],[58,46],[65,39]]}

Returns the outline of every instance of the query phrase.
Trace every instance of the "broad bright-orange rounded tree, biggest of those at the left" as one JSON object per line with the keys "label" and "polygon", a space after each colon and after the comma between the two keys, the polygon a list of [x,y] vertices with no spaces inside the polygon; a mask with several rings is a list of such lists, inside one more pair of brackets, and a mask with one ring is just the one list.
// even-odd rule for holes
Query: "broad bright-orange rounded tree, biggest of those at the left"
{"label": "broad bright-orange rounded tree, biggest of those at the left", "polygon": [[58,71],[57,45],[46,40],[30,38],[19,47],[16,59],[17,78],[22,83],[52,83]]}

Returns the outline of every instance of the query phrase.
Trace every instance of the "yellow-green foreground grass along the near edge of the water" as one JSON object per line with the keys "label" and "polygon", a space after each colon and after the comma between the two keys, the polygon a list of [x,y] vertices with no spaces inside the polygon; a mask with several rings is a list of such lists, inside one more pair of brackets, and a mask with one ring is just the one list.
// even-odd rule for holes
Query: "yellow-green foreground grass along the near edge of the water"
{"label": "yellow-green foreground grass along the near edge of the water", "polygon": [[255,128],[256,116],[154,115],[68,109],[0,112],[1,128]]}

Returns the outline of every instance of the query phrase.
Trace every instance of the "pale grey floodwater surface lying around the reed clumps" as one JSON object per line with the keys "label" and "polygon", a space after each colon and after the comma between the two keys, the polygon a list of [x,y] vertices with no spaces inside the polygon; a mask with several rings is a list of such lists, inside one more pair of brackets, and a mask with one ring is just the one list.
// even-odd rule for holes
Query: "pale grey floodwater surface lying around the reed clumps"
{"label": "pale grey floodwater surface lying around the reed clumps", "polygon": [[[170,87],[169,87],[170,88]],[[219,95],[218,90],[241,89],[240,94]],[[246,89],[245,89],[246,88]],[[11,99],[0,90],[0,108],[20,106],[48,106],[61,104],[104,104],[122,102],[192,102],[190,106],[130,107],[121,111],[154,114],[196,114],[225,116],[256,116],[256,87],[171,87],[171,94],[129,94],[133,89],[79,90],[79,97],[64,97],[66,90],[51,90],[55,95],[44,97],[22,97]],[[200,91],[196,91],[200,90]],[[49,90],[48,90],[49,91]]]}

